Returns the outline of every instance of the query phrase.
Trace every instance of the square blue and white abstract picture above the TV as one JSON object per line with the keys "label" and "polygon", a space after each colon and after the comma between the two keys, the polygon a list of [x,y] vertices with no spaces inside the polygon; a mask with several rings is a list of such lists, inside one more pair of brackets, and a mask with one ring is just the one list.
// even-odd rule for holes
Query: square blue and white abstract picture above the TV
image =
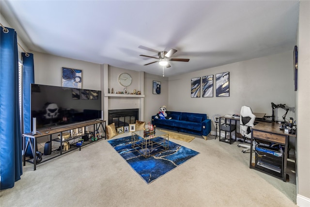
{"label": "square blue and white abstract picture above the TV", "polygon": [[62,67],[62,87],[82,88],[82,70]]}

